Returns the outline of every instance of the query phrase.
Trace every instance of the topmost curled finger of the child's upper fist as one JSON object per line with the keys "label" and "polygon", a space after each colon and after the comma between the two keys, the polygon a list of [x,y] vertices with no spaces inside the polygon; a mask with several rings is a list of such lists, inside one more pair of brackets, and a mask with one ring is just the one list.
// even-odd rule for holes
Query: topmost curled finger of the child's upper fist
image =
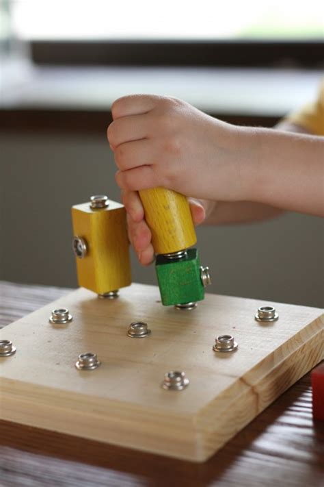
{"label": "topmost curled finger of the child's upper fist", "polygon": [[156,95],[130,95],[113,102],[111,114],[113,120],[121,116],[139,115],[150,112],[161,97]]}

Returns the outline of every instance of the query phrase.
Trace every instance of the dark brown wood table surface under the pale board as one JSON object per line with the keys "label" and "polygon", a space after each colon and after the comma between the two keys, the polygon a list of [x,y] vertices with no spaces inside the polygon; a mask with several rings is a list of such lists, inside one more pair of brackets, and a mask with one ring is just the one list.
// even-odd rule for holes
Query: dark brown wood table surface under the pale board
{"label": "dark brown wood table surface under the pale board", "polygon": [[[0,326],[69,291],[0,282]],[[1,421],[0,486],[324,487],[324,422],[310,374],[204,464]]]}

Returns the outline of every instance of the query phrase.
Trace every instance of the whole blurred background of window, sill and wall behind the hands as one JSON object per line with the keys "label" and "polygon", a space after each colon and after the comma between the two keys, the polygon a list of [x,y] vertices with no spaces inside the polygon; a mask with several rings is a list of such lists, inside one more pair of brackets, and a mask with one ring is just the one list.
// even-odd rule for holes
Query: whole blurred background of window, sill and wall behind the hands
{"label": "whole blurred background of window, sill and wall behind the hands", "polygon": [[[323,1],[0,0],[0,279],[77,286],[70,207],[120,200],[111,103],[185,99],[272,127],[323,75]],[[323,221],[199,227],[210,292],[323,306]],[[133,281],[155,284],[133,258]]]}

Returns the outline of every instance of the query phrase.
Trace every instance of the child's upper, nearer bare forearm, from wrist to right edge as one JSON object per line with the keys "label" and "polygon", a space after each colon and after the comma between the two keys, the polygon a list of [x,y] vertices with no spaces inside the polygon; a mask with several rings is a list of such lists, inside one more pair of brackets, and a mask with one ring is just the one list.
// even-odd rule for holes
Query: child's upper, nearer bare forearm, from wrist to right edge
{"label": "child's upper, nearer bare forearm, from wrist to right edge", "polygon": [[[252,201],[324,216],[324,139],[272,129],[243,128],[250,140],[242,172]],[[248,197],[248,195],[247,195]]]}

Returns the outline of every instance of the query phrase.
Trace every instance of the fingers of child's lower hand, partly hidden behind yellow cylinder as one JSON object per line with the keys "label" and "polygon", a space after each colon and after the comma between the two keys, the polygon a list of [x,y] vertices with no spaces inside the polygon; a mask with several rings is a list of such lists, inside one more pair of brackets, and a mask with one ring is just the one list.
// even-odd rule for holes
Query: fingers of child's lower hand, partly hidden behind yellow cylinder
{"label": "fingers of child's lower hand, partly hidden behind yellow cylinder", "polygon": [[[122,203],[127,212],[127,227],[129,240],[133,245],[139,262],[144,266],[154,260],[154,249],[151,243],[151,232],[144,220],[144,208],[139,199],[138,192],[123,190]],[[204,202],[189,199],[193,223],[199,225],[206,216]]]}

